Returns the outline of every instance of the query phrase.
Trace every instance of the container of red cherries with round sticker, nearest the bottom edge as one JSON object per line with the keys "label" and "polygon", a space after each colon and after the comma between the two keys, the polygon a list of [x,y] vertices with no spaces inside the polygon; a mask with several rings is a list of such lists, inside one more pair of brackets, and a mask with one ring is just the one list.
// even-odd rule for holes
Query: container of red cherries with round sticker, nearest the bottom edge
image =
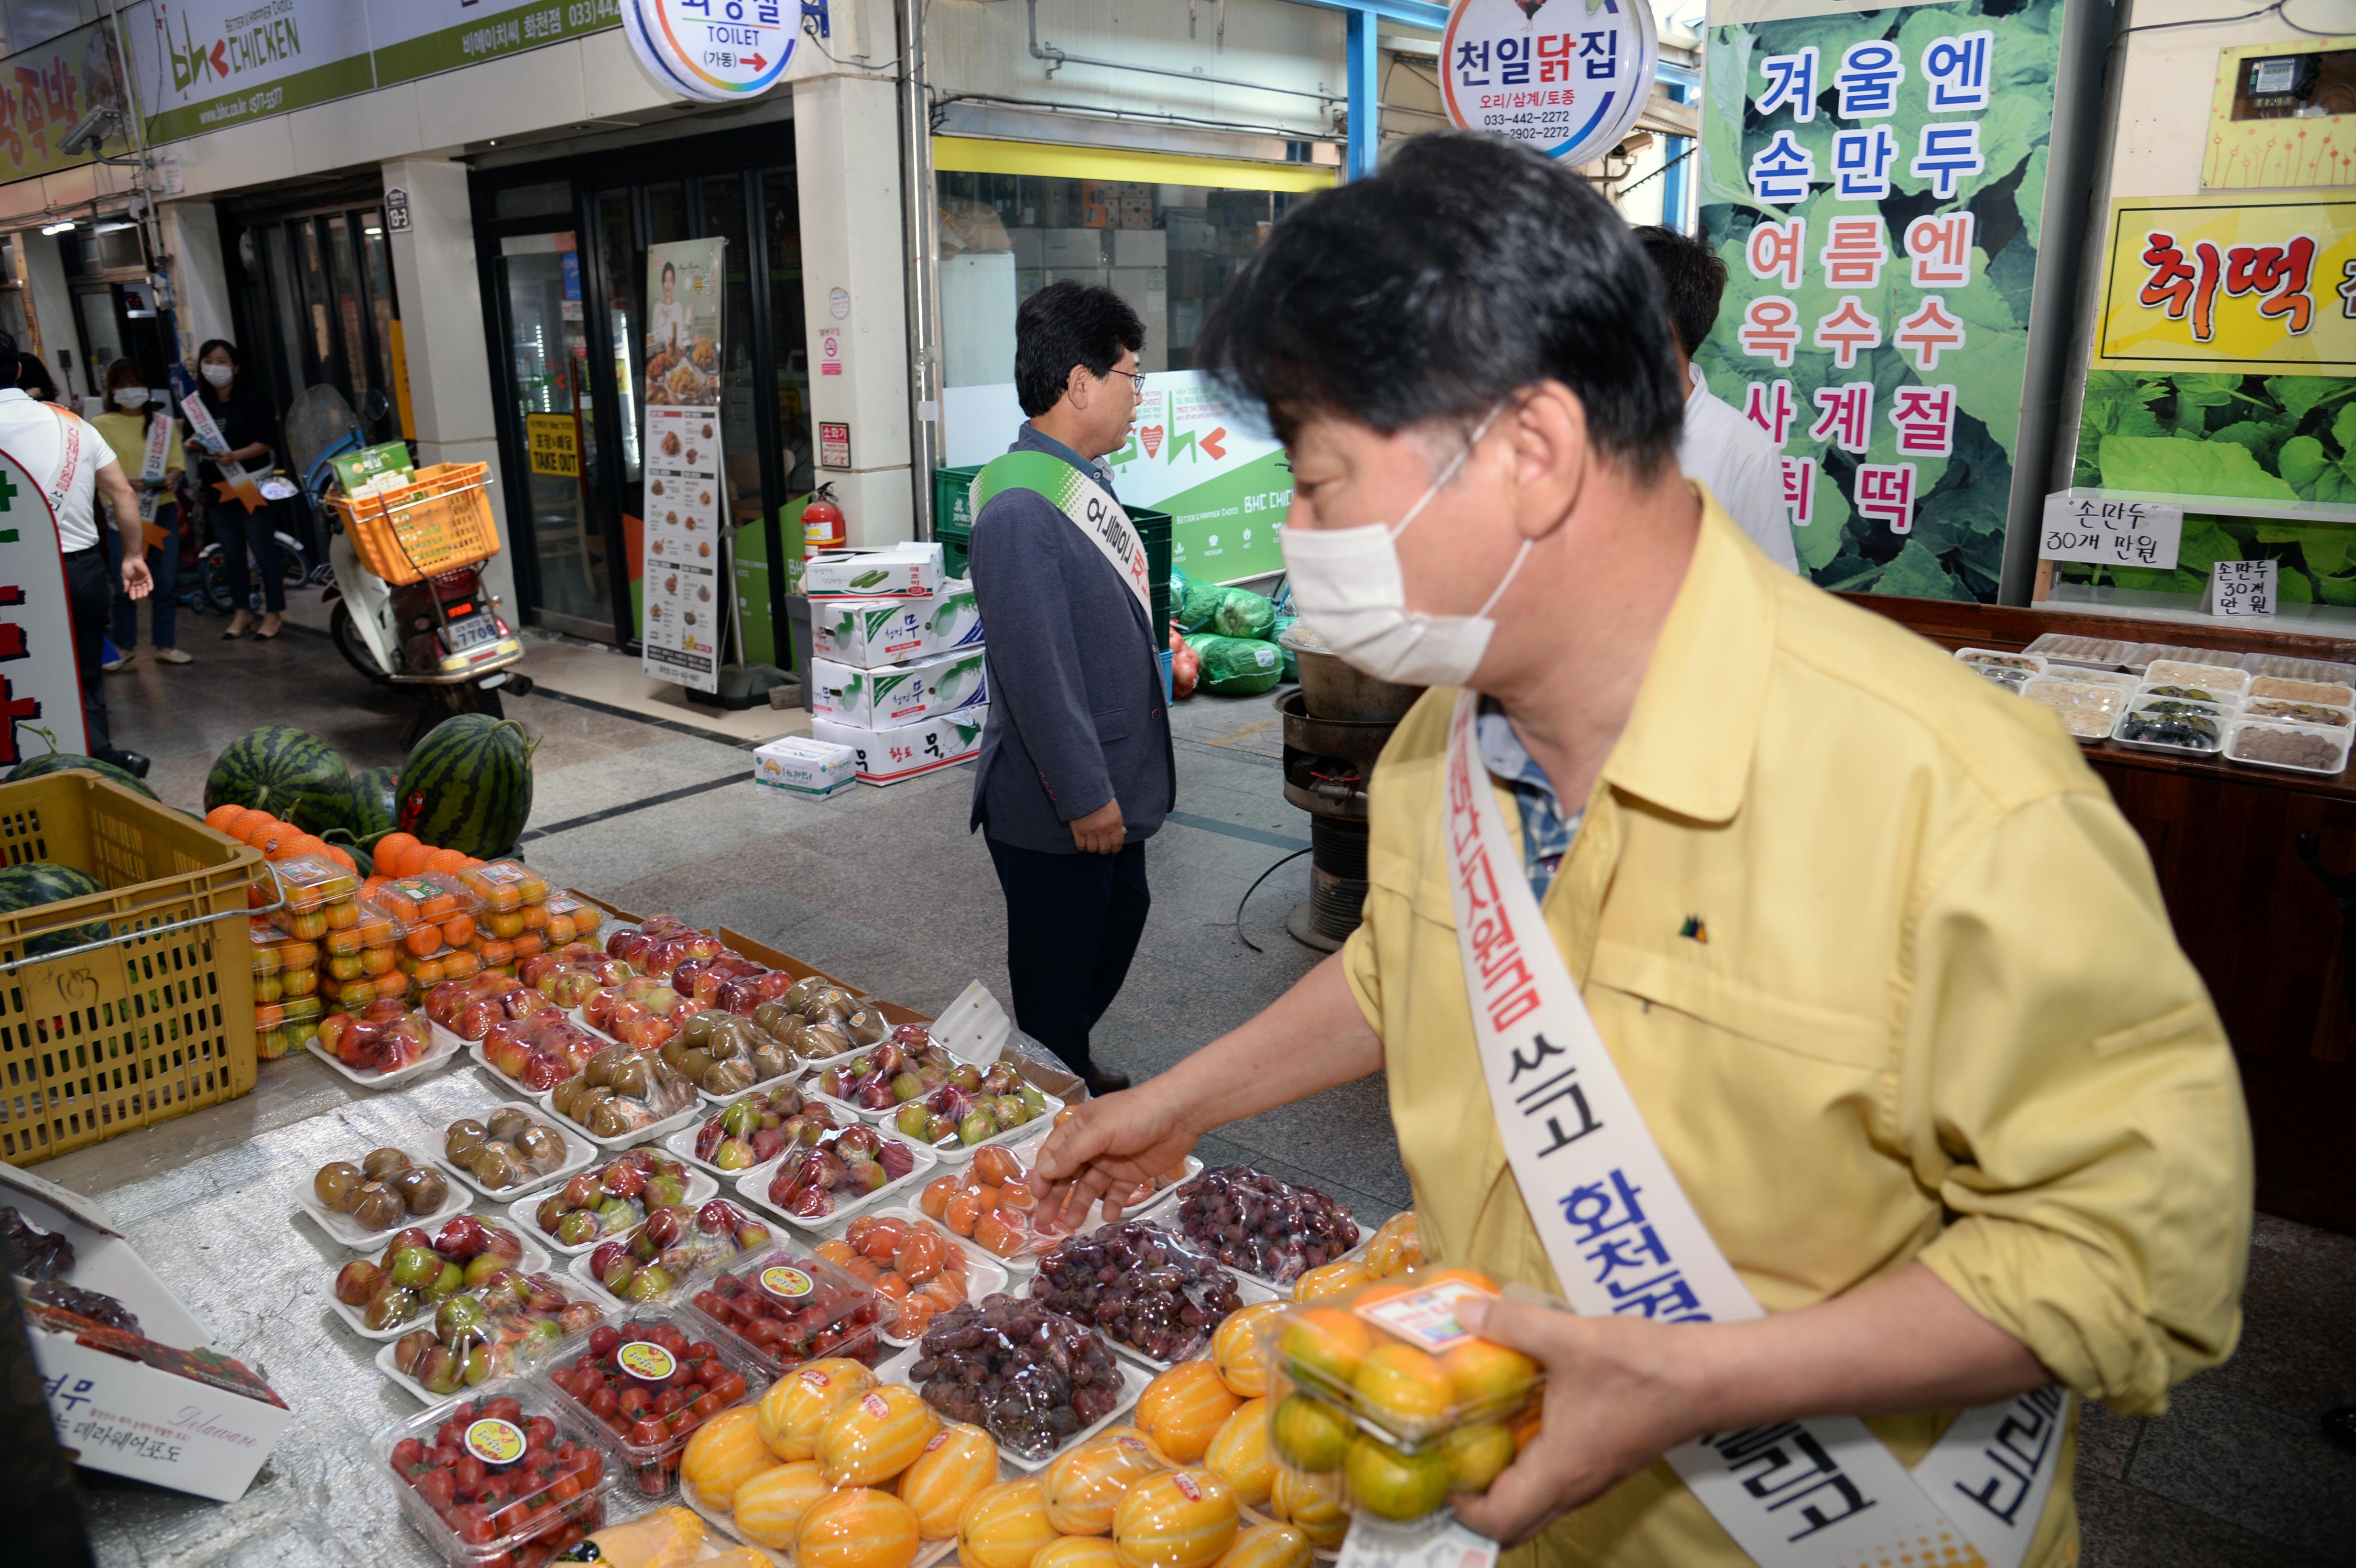
{"label": "container of red cherries with round sticker, nearest the bottom edge", "polygon": [[[544,1561],[575,1530],[605,1523],[610,1460],[596,1427],[537,1377],[511,1377],[375,1434],[377,1462],[410,1526],[457,1568]],[[457,1497],[455,1471],[483,1469],[502,1502]],[[504,1533],[492,1519],[514,1519]],[[478,1540],[469,1540],[469,1535]]]}

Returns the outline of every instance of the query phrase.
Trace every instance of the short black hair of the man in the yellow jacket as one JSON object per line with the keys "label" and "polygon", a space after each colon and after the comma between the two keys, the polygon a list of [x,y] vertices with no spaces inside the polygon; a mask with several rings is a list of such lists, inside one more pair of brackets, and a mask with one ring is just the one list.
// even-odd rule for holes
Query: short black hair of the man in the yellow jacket
{"label": "short black hair of the man in the yellow jacket", "polygon": [[1628,224],[1583,179],[1503,137],[1430,132],[1279,221],[1194,365],[1279,436],[1317,412],[1385,436],[1477,419],[1562,381],[1595,450],[1649,478],[1685,419],[1661,313]]}

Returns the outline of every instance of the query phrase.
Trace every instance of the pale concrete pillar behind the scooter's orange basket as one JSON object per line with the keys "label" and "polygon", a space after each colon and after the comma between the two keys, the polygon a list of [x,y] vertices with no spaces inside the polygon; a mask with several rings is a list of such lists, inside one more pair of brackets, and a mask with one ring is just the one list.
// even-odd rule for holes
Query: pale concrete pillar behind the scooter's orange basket
{"label": "pale concrete pillar behind the scooter's orange basket", "polygon": [[386,226],[393,290],[401,299],[401,346],[410,363],[410,410],[417,414],[417,461],[490,464],[502,551],[485,567],[490,591],[507,600],[507,622],[523,619],[516,600],[514,539],[499,476],[499,410],[490,393],[483,341],[483,287],[474,257],[474,207],[466,165],[412,158],[384,165],[391,193],[408,191],[410,226]]}

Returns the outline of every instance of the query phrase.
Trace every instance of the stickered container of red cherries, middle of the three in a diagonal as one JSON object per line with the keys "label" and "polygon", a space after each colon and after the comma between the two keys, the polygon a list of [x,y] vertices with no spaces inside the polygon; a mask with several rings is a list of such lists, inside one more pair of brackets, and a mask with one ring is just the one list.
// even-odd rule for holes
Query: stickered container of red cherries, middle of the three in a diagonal
{"label": "stickered container of red cherries, middle of the three in a diagonal", "polygon": [[[641,1497],[669,1497],[688,1439],[749,1396],[761,1363],[702,1333],[695,1318],[638,1309],[565,1342],[540,1377],[575,1420],[594,1422]],[[603,1394],[613,1394],[610,1410]]]}

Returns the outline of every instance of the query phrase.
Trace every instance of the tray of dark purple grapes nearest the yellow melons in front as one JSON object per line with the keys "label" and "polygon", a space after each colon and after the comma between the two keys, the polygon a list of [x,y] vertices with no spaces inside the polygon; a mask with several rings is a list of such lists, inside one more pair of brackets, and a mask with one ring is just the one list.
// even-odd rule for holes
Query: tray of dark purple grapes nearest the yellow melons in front
{"label": "tray of dark purple grapes nearest the yellow melons in front", "polygon": [[1105,1337],[1039,1302],[992,1295],[933,1318],[909,1382],[952,1422],[1044,1460],[1121,1406],[1121,1368]]}

